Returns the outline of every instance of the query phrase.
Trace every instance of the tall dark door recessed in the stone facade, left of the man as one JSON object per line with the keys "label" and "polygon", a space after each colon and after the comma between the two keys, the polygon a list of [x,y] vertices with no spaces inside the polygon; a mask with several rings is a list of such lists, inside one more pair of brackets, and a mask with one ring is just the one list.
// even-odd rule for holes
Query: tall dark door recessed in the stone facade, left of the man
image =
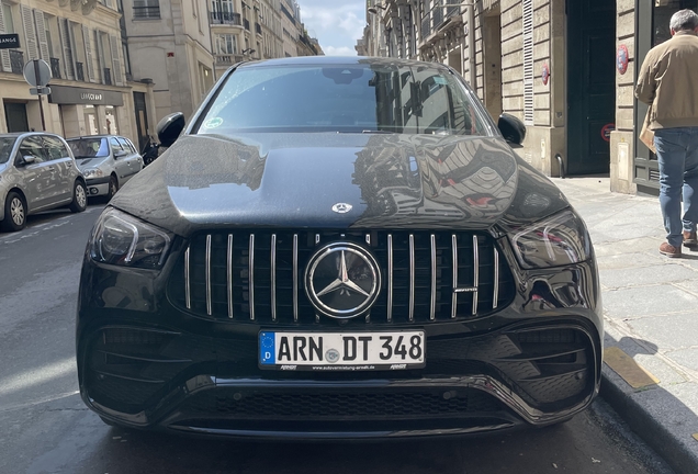
{"label": "tall dark door recessed in the stone facade, left of the man", "polygon": [[616,1],[567,2],[567,174],[608,173],[616,116]]}

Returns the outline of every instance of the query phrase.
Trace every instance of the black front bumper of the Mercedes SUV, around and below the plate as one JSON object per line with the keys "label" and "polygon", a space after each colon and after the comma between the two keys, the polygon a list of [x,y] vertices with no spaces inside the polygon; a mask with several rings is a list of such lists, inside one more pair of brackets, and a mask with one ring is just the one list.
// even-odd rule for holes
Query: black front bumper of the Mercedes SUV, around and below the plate
{"label": "black front bumper of the Mercedes SUV, around and below the plate", "polygon": [[544,426],[598,393],[600,347],[585,326],[547,319],[428,336],[425,369],[311,376],[260,371],[255,337],[108,325],[79,346],[80,390],[117,424],[194,433],[392,438]]}

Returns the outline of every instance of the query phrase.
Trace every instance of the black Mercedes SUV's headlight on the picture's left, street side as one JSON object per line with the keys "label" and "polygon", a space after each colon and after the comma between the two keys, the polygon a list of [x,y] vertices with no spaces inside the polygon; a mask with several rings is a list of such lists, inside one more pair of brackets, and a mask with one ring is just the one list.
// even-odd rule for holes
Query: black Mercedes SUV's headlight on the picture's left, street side
{"label": "black Mercedes SUV's headlight on the picture's left, street side", "polygon": [[102,263],[156,269],[165,262],[171,240],[171,234],[110,208],[94,225],[90,256]]}

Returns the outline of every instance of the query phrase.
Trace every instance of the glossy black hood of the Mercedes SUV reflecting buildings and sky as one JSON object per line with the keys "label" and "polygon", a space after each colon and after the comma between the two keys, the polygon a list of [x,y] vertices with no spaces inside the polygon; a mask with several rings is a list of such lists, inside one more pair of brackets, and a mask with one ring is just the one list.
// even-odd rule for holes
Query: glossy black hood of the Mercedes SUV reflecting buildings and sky
{"label": "glossy black hood of the Mercedes SUV reflecting buildings and sky", "polygon": [[567,204],[499,137],[250,134],[183,136],[112,205],[187,236],[229,226],[485,229]]}

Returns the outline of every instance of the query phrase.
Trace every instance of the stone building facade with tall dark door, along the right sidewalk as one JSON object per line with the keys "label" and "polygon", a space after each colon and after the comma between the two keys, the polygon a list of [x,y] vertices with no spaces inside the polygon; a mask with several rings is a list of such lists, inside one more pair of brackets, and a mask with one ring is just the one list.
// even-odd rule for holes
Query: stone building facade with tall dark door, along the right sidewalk
{"label": "stone building facade with tall dark door, along the right sidewalk", "polygon": [[447,64],[493,117],[528,128],[517,151],[549,176],[610,173],[613,191],[655,193],[656,157],[637,145],[646,109],[635,63],[698,0],[368,0],[369,56]]}

